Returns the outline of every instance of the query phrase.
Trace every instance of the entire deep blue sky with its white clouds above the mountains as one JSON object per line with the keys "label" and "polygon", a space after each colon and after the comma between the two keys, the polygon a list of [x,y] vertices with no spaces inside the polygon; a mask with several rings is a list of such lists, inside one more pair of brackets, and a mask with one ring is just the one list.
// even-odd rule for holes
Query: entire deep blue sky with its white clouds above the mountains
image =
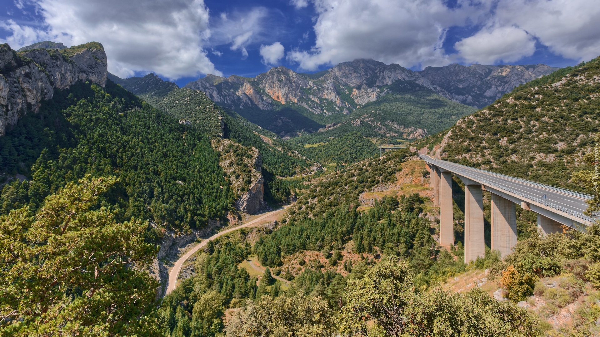
{"label": "entire deep blue sky with its white clouds above the mountains", "polygon": [[596,0],[0,0],[0,42],[98,41],[109,71],[185,85],[373,58],[566,67],[600,55]]}

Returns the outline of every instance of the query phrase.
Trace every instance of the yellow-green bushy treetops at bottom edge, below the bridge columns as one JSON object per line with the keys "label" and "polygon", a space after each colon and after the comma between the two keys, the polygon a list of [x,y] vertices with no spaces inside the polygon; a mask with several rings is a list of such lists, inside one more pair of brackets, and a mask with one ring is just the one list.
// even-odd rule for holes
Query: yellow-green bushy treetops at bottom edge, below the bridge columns
{"label": "yellow-green bushy treetops at bottom edge, below the bridge columns", "polygon": [[390,336],[535,336],[538,321],[524,309],[482,290],[466,294],[415,291],[406,262],[376,264],[363,279],[349,281],[340,327],[365,333],[374,320]]}

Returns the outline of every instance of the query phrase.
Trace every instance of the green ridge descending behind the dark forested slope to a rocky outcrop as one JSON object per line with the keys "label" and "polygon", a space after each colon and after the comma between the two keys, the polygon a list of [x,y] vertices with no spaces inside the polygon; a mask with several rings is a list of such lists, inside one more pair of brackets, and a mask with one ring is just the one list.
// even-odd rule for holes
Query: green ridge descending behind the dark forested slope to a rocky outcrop
{"label": "green ridge descending behind the dark forested slope to a rocky outcrop", "polygon": [[216,106],[202,91],[178,88],[154,74],[130,79],[111,74],[110,79],[179,119],[180,124],[193,125],[211,137],[235,195],[235,207],[241,212],[257,213],[265,209],[265,201],[287,203],[293,192],[278,181],[278,176],[309,171],[307,159],[275,134]]}

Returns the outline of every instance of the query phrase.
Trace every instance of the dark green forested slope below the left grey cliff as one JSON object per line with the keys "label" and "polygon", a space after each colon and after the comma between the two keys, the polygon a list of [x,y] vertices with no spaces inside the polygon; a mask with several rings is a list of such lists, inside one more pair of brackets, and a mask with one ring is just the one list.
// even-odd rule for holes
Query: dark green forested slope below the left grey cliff
{"label": "dark green forested slope below the left grey cliff", "polygon": [[0,148],[1,167],[32,177],[4,186],[2,213],[36,209],[46,195],[86,173],[119,177],[100,203],[116,205],[123,219],[185,230],[223,217],[233,203],[206,136],[110,81],[106,89],[80,83],[56,91],[40,113],[20,119],[0,138]]}

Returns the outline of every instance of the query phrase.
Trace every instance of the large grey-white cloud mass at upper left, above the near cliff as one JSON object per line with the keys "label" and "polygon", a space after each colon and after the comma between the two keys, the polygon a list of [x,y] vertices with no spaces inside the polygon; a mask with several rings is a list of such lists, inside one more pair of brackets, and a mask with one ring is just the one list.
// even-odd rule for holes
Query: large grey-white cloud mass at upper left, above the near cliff
{"label": "large grey-white cloud mass at upper left, above the near cliff", "polygon": [[[132,76],[154,71],[170,79],[221,74],[206,56],[211,35],[203,0],[35,0],[46,23],[33,29],[4,22],[6,40],[21,47],[41,40],[67,45],[98,41],[109,58],[109,71]],[[3,27],[4,28],[4,27]],[[34,30],[34,33],[31,32]]]}

